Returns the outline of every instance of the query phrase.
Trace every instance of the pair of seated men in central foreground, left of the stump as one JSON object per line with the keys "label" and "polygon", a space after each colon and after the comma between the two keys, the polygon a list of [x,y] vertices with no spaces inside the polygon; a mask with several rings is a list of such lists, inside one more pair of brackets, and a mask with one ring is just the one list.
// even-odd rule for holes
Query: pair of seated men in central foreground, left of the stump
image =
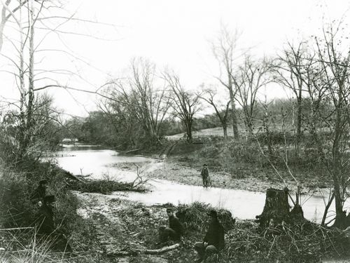
{"label": "pair of seated men in central foreground, left of the stump", "polygon": [[[169,217],[169,227],[160,228],[160,241],[165,242],[168,239],[180,241],[184,234],[183,225],[179,218],[174,215],[172,208],[167,208],[167,215]],[[197,262],[203,262],[209,255],[217,253],[225,247],[224,229],[218,220],[218,214],[215,210],[210,210],[208,215],[210,223],[207,234],[202,242],[197,242],[194,245],[198,253]]]}

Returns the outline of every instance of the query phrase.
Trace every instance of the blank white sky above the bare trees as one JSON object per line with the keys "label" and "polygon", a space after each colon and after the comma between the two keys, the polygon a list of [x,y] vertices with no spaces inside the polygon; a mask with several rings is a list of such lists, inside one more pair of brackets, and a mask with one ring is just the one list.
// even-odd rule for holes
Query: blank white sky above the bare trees
{"label": "blank white sky above the bare trees", "polygon": [[[66,13],[106,24],[70,21],[60,27],[64,32],[89,36],[65,33],[45,36],[45,30],[38,29],[36,43],[43,36],[45,41],[38,48],[41,52],[36,55],[37,68],[59,72],[38,85],[55,79],[66,86],[95,90],[106,81],[123,76],[135,57],[148,58],[159,69],[174,69],[187,89],[196,89],[201,83],[218,84],[214,79],[218,65],[210,43],[218,36],[222,24],[232,32],[239,30],[239,46],[252,48],[253,55],[262,58],[276,55],[287,40],[315,34],[325,20],[343,17],[346,22],[349,7],[350,2],[342,0],[66,1]],[[15,33],[9,28],[6,34]],[[6,43],[2,52],[10,54],[11,48]],[[6,63],[1,57],[0,67],[6,67]],[[0,78],[3,83],[0,95],[18,98],[13,76],[0,72]],[[54,97],[55,107],[66,114],[86,116],[96,109],[95,95],[68,93],[59,88],[45,92]],[[266,93],[269,100],[286,97],[285,91],[276,86],[268,87]]]}

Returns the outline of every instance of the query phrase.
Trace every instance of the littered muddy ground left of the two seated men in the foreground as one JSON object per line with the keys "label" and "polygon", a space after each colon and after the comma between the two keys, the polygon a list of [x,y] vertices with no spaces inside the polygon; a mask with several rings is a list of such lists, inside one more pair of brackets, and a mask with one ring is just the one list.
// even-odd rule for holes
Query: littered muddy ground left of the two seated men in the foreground
{"label": "littered muddy ground left of the two seated men in the foreground", "polygon": [[[95,248],[105,258],[105,262],[174,262],[179,257],[179,250],[162,255],[116,256],[116,252],[132,249],[157,249],[173,242],[158,244],[158,229],[167,225],[167,205],[144,206],[137,202],[103,194],[82,194],[74,192],[81,205],[78,214],[85,219],[92,219],[97,231]],[[195,252],[188,250],[190,258],[195,259]],[[193,262],[193,261],[189,261]]]}

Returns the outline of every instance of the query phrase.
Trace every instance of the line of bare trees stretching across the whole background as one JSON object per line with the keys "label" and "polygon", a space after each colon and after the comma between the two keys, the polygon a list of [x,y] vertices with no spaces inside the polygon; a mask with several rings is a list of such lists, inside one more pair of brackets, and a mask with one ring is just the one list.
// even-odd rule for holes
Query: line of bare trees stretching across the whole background
{"label": "line of bare trees stretching across the whole background", "polygon": [[[57,144],[54,138],[62,128],[72,135],[83,132],[90,137],[99,136],[98,140],[117,147],[139,146],[140,141],[146,147],[161,144],[165,131],[176,127],[178,122],[174,120],[178,120],[187,142],[193,143],[195,119],[200,119],[198,116],[206,104],[212,107],[216,122],[223,128],[224,140],[228,140],[229,124],[234,140],[242,135],[254,138],[261,130],[271,131],[274,116],[269,113],[271,105],[262,97],[265,87],[278,85],[294,97],[289,109],[281,109],[281,127],[288,121],[295,127],[295,149],[304,147],[303,133],[311,135],[318,156],[332,178],[329,203],[335,200],[335,224],[343,224],[350,168],[350,44],[341,23],[325,25],[321,36],[286,43],[274,58],[255,58],[251,49],[238,48],[239,33],[223,27],[211,45],[220,68],[213,78],[216,86],[204,83],[200,88],[185,87],[181,76],[171,69],[160,71],[153,62],[136,58],[128,74],[110,79],[91,91],[62,85],[55,77],[62,70],[39,69],[36,65],[38,53],[57,51],[39,49],[46,34],[38,34],[42,36],[38,39],[38,30],[71,33],[59,27],[71,22],[73,16],[52,16],[51,8],[61,8],[59,1],[6,0],[1,9],[0,54],[10,65],[3,71],[14,76],[19,91],[17,101],[3,102],[3,109],[10,108],[1,114],[0,141],[1,148],[6,149],[3,159],[40,158],[41,149]],[[61,21],[47,22],[57,18]],[[6,34],[9,22],[13,22],[16,39]],[[4,39],[13,46],[14,53],[3,52]],[[64,123],[60,112],[52,107],[52,98],[40,92],[47,88],[99,95],[99,111],[92,112],[74,130],[81,120]],[[239,123],[243,124],[243,131]]]}

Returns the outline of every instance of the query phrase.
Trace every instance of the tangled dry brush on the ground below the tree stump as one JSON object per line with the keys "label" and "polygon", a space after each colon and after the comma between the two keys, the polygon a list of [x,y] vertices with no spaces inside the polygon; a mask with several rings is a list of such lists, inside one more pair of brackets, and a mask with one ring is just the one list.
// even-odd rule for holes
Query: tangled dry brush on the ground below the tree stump
{"label": "tangled dry brush on the ground below the tree stump", "polygon": [[237,262],[247,257],[257,262],[320,262],[343,257],[349,239],[339,229],[329,229],[307,220],[277,224],[261,229],[251,221],[237,222],[225,236],[228,255]]}

